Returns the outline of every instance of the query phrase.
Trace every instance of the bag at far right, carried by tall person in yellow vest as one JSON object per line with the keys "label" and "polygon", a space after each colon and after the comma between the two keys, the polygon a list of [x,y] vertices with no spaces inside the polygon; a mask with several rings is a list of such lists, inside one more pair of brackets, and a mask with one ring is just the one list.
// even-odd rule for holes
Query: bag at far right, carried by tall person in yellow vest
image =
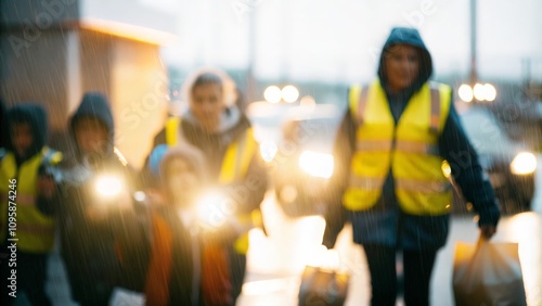
{"label": "bag at far right, carried by tall person in yellow vest", "polygon": [[527,305],[517,243],[456,243],[455,305]]}

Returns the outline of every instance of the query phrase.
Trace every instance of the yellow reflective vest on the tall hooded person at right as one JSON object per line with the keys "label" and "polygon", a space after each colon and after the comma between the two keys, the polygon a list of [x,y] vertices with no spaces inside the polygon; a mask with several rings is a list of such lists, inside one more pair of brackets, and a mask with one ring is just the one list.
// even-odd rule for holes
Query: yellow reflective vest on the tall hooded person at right
{"label": "yellow reflective vest on the tall hooded person at right", "polygon": [[378,80],[367,88],[351,88],[350,112],[357,131],[349,184],[343,197],[346,208],[365,211],[376,205],[391,168],[403,212],[450,212],[452,189],[442,174],[444,160],[438,150],[450,112],[450,97],[449,86],[426,82],[412,95],[396,125]]}

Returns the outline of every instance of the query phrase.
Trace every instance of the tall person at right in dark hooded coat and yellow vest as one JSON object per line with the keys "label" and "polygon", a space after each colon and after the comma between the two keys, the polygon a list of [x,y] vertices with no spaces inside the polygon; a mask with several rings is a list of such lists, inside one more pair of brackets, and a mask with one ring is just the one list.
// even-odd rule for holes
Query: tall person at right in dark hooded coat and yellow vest
{"label": "tall person at right in dark hooded coat and yellow vest", "polygon": [[500,218],[493,189],[453,107],[452,89],[429,81],[431,74],[418,31],[393,28],[378,77],[350,88],[338,129],[323,243],[333,247],[344,221],[351,221],[353,241],[369,263],[372,305],[396,303],[396,252],[402,253],[405,305],[429,304],[452,204],[443,163],[478,213],[481,237],[490,239]]}

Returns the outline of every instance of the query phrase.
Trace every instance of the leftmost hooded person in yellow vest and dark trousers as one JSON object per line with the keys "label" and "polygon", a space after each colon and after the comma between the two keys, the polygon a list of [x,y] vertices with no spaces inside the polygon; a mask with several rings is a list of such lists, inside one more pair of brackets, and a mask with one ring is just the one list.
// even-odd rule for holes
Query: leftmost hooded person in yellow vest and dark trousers
{"label": "leftmost hooded person in yellow vest and dark trousers", "polygon": [[0,263],[0,301],[11,305],[22,291],[33,305],[51,305],[44,283],[55,227],[39,207],[55,199],[51,167],[62,153],[46,145],[48,118],[38,104],[13,106],[7,126],[8,143],[0,152],[0,244],[2,253],[11,255]]}

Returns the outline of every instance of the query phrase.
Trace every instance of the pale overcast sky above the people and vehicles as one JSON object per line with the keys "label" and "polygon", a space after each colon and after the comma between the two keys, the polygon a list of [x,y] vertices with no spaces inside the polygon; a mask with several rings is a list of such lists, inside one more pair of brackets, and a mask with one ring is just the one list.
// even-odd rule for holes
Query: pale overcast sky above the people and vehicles
{"label": "pale overcast sky above the people and vehicles", "polygon": [[[436,76],[469,69],[469,0],[140,0],[176,15],[179,39],[164,60],[243,69],[254,43],[260,78],[351,82],[375,75],[392,26],[414,26],[433,54]],[[254,14],[254,24],[250,23]],[[542,1],[478,0],[482,78],[519,80],[531,61],[542,80]],[[250,42],[249,28],[255,26]]]}

